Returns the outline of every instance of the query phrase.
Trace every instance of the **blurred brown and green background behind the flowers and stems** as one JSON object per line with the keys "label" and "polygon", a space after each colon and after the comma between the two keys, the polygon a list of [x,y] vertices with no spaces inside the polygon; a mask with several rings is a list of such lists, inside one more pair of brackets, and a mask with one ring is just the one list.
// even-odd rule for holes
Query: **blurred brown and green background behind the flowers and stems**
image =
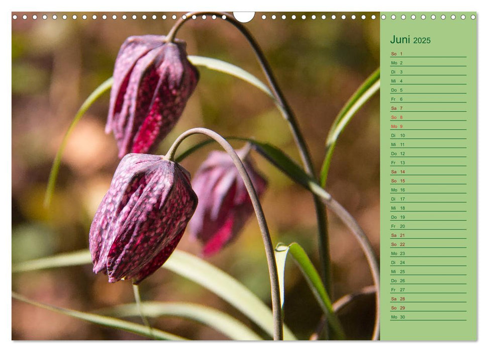
{"label": "blurred brown and green background behind the flowers and stems", "polygon": [[[173,13],[27,13],[12,20],[12,261],[19,262],[87,248],[92,216],[118,164],[116,143],[104,133],[109,94],[86,113],[64,152],[51,207],[43,207],[49,170],[70,121],[84,99],[112,75],[120,45],[131,35],[166,34]],[[43,20],[41,16],[47,15]],[[66,14],[67,20],[61,16]],[[117,15],[117,20],[112,15]],[[152,14],[157,20],[152,20]],[[175,13],[177,16],[182,14]],[[332,13],[256,13],[246,27],[261,45],[284,95],[294,109],[316,169],[333,119],[361,82],[379,66],[379,20],[362,13],[332,20]],[[276,20],[271,15],[277,16]],[[307,19],[302,20],[302,15]],[[327,19],[322,20],[321,16]],[[37,15],[37,20],[32,19]],[[162,15],[167,15],[162,20]],[[189,55],[222,59],[264,75],[244,37],[222,20],[198,18],[178,33]],[[222,135],[268,141],[300,161],[287,124],[272,101],[255,87],[223,73],[200,68],[201,78],[180,121],[160,146],[165,153],[177,135],[192,127]],[[373,97],[340,136],[327,190],[358,220],[376,253],[379,241],[379,99]],[[185,145],[199,141],[198,137]],[[235,143],[240,147],[242,143]],[[216,146],[207,146],[182,163],[191,173]],[[181,150],[183,150],[184,146]],[[318,266],[312,197],[258,155],[257,167],[269,188],[263,208],[273,242],[300,243]],[[352,235],[329,213],[334,298],[372,284],[366,260]],[[201,246],[183,236],[178,249],[199,254]],[[240,237],[209,261],[236,277],[269,304],[269,280],[261,236],[253,218]],[[287,265],[285,322],[308,339],[321,310],[294,264]],[[33,300],[82,311],[133,302],[129,282],[109,284],[90,266],[15,274],[13,290]],[[144,300],[187,301],[224,310],[255,327],[211,292],[164,269],[141,284]],[[341,312],[349,339],[371,336],[373,297]],[[134,321],[140,322],[139,319]],[[163,330],[191,339],[225,339],[213,329],[179,318],[152,319]],[[259,329],[256,329],[259,332]],[[13,339],[140,339],[123,331],[92,325],[25,303],[12,301]]]}

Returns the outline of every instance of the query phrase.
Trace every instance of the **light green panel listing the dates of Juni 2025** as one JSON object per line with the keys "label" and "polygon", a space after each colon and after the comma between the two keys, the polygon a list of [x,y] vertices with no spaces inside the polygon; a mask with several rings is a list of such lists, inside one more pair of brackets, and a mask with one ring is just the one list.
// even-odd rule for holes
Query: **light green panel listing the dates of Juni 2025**
{"label": "light green panel listing the dates of Juni 2025", "polygon": [[381,13],[381,339],[476,339],[476,14]]}

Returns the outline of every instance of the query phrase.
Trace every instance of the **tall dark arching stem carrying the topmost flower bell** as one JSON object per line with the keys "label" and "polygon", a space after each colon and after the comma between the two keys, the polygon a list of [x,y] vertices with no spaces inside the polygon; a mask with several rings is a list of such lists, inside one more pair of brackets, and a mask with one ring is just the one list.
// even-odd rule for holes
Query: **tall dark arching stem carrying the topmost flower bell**
{"label": "tall dark arching stem carrying the topmost flower bell", "polygon": [[[278,109],[283,115],[284,119],[288,122],[295,143],[297,144],[297,147],[299,149],[300,157],[305,166],[305,170],[307,171],[307,174],[309,174],[312,178],[315,179],[316,175],[312,164],[312,158],[310,156],[310,152],[308,150],[302,132],[298,126],[297,120],[295,118],[295,114],[291,110],[291,107],[289,106],[283,93],[281,92],[281,89],[278,83],[276,82],[276,78],[274,77],[274,74],[271,71],[271,67],[269,66],[269,63],[266,57],[264,56],[261,47],[254,39],[252,34],[247,30],[247,28],[242,23],[234,19],[234,17],[231,14],[225,12],[206,12],[206,11],[189,12],[185,14],[184,18],[180,18],[174,24],[174,26],[171,28],[168,35],[166,36],[166,41],[167,42],[173,41],[180,27],[186,21],[190,20],[192,16],[202,16],[202,15],[209,15],[209,16],[216,15],[222,18],[224,21],[229,22],[234,27],[236,27],[246,38],[246,40],[249,42],[254,53],[257,56],[261,69],[263,70],[264,75],[266,76],[266,79],[271,87],[271,92],[276,98]],[[332,297],[329,240],[328,240],[328,233],[327,233],[327,213],[325,212],[324,206],[322,205],[320,199],[316,195],[313,195],[313,198],[314,198],[314,204],[315,204],[316,216],[317,216],[319,255],[321,258],[322,278],[324,280],[324,284],[326,285]]]}

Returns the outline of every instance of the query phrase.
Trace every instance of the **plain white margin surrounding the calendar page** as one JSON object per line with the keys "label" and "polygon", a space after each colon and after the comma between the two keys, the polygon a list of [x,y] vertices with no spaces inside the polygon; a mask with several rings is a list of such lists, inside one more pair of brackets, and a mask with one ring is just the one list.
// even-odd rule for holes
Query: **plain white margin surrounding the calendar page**
{"label": "plain white margin surrounding the calendar page", "polygon": [[[2,302],[3,305],[3,324],[2,324],[2,343],[6,343],[5,346],[7,350],[26,350],[30,351],[33,348],[49,348],[50,350],[65,350],[70,348],[73,352],[83,351],[86,348],[111,348],[125,351],[132,350],[134,348],[177,348],[178,351],[182,350],[194,350],[200,348],[209,348],[212,350],[227,350],[232,348],[235,352],[246,351],[249,348],[257,348],[259,350],[265,350],[269,348],[279,348],[288,351],[295,350],[296,348],[307,348],[309,350],[325,351],[327,349],[335,350],[346,348],[354,348],[362,350],[374,350],[374,351],[391,351],[395,349],[395,352],[401,351],[411,351],[412,348],[440,348],[443,351],[459,350],[461,348],[469,348],[469,350],[482,350],[486,348],[486,341],[488,336],[486,336],[486,331],[488,331],[486,323],[486,314],[488,313],[487,304],[483,297],[488,296],[487,284],[486,284],[486,269],[488,262],[488,255],[482,255],[484,250],[488,250],[488,224],[487,217],[488,214],[488,204],[486,198],[488,198],[488,185],[482,181],[486,180],[486,174],[488,173],[488,160],[486,155],[488,154],[488,138],[481,138],[482,136],[488,135],[488,108],[486,99],[481,99],[481,97],[488,96],[488,88],[486,82],[488,81],[487,68],[486,66],[480,65],[482,61],[486,62],[487,55],[487,31],[486,28],[488,24],[483,21],[483,16],[488,17],[488,12],[480,8],[480,2],[473,0],[462,0],[462,1],[452,1],[444,0],[442,1],[442,7],[439,5],[433,5],[433,3],[428,3],[425,0],[409,0],[408,2],[400,1],[394,2],[378,2],[378,1],[349,1],[349,2],[327,2],[322,0],[322,2],[313,0],[300,0],[295,3],[284,3],[283,1],[271,1],[264,3],[258,0],[245,0],[241,2],[229,2],[229,1],[211,1],[203,2],[197,0],[185,1],[185,2],[170,2],[167,0],[160,0],[156,3],[154,1],[143,3],[141,1],[133,2],[133,4],[128,4],[127,2],[121,5],[120,1],[100,1],[100,0],[83,0],[82,2],[66,2],[66,1],[40,1],[40,0],[24,0],[20,2],[7,2],[8,5],[1,5],[2,11],[2,21],[0,22],[0,33],[2,33],[3,43],[11,42],[11,17],[12,11],[196,11],[196,10],[219,10],[219,11],[322,11],[322,12],[364,12],[364,11],[478,11],[478,342],[292,342],[292,343],[280,343],[279,345],[271,345],[268,342],[255,343],[250,342],[235,343],[235,342],[190,342],[190,343],[174,343],[174,342],[163,342],[164,345],[155,346],[154,342],[148,345],[147,342],[143,345],[141,342],[123,343],[119,342],[88,342],[85,343],[75,343],[75,342],[50,342],[50,343],[35,343],[35,342],[12,342],[11,340],[11,299],[10,299],[10,267],[11,267],[11,246],[10,246],[10,233],[5,230],[4,227],[4,241],[7,241],[4,247],[4,253],[2,257],[2,268],[4,268],[4,285],[2,290]],[[205,6],[204,6],[205,5]],[[481,58],[483,58],[481,60]],[[4,55],[0,56],[2,66],[4,67],[4,75],[8,78],[4,78],[3,82],[3,94],[1,95],[0,106],[4,107],[4,119],[2,120],[7,124],[2,128],[2,135],[0,138],[0,145],[3,151],[9,151],[7,158],[7,163],[11,166],[11,148],[12,148],[12,135],[11,135],[11,70],[12,62],[11,55],[8,52],[4,52]],[[9,95],[10,93],[10,95]],[[11,192],[11,177],[6,174],[2,176],[2,194],[7,196]],[[8,202],[10,203],[10,202]],[[11,204],[4,204],[4,211],[2,213],[2,220],[4,224],[8,224],[8,217],[10,212]],[[8,302],[8,304],[7,304]],[[345,344],[344,344],[345,343]],[[96,344],[96,346],[93,346]],[[484,347],[482,347],[484,345]]]}

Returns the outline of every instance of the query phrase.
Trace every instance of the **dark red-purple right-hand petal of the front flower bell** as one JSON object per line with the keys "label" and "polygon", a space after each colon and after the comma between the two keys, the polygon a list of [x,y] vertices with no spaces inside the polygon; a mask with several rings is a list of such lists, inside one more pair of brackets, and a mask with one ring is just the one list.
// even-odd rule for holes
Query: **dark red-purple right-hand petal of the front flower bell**
{"label": "dark red-purple right-hand petal of the front flower bell", "polygon": [[[197,197],[173,162],[155,168],[141,196],[121,219],[107,256],[109,281],[136,276],[141,268],[173,243],[197,206]],[[179,239],[178,239],[179,240]]]}

